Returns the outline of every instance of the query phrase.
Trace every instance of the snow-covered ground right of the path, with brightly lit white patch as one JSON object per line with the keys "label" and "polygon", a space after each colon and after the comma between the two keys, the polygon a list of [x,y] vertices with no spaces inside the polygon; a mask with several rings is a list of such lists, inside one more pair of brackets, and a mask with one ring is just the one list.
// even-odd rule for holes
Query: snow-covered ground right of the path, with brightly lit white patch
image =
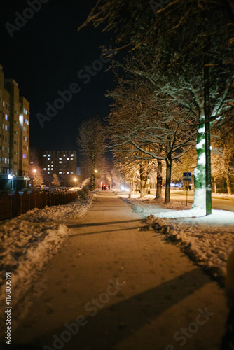
{"label": "snow-covered ground right of the path, with brightly lit white patch", "polygon": [[[119,193],[123,200],[132,204],[135,211],[146,218],[146,228],[157,233],[159,239],[176,243],[197,265],[205,269],[223,285],[226,276],[226,260],[234,246],[234,212],[191,209],[185,202],[172,200],[163,203],[153,196],[142,199]],[[162,236],[163,235],[163,236]]]}

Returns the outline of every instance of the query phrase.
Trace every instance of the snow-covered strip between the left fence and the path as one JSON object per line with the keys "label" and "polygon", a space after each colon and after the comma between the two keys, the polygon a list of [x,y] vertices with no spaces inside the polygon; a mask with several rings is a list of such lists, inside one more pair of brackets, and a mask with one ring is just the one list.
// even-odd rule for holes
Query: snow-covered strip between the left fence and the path
{"label": "snow-covered strip between the left fence and the path", "polygon": [[5,299],[5,273],[11,272],[13,303],[16,304],[31,285],[34,275],[69,236],[66,220],[83,216],[92,204],[92,197],[44,209],[35,208],[0,223],[0,302]]}

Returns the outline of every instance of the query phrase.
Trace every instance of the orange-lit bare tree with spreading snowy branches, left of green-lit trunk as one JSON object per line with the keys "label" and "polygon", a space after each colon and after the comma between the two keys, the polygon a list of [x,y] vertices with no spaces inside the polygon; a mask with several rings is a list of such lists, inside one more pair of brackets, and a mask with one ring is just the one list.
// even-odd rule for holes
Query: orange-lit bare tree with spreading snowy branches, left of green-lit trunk
{"label": "orange-lit bare tree with spreading snowy branches, left of green-lit trunk", "polygon": [[[118,87],[108,94],[114,101],[111,113],[106,117],[113,151],[128,153],[136,160],[165,160],[165,202],[170,202],[172,160],[181,157],[195,144],[193,116],[170,99],[167,103],[160,102],[152,87],[131,85],[132,82],[119,80]],[[158,190],[161,188],[160,174],[159,163]],[[160,197],[160,193],[156,197]]]}

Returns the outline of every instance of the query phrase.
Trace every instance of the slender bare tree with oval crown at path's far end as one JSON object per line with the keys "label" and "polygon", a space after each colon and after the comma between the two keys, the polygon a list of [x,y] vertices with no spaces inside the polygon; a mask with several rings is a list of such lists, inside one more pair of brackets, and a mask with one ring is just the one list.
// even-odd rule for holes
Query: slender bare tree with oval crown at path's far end
{"label": "slender bare tree with oval crown at path's far end", "polygon": [[83,160],[87,165],[89,163],[90,190],[95,189],[95,170],[104,155],[105,140],[106,131],[99,117],[85,120],[79,127],[76,141]]}

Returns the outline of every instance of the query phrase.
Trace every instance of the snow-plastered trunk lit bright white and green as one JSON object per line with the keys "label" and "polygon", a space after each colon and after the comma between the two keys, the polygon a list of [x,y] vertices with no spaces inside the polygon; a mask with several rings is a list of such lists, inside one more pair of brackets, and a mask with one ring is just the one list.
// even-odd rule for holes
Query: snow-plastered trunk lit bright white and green
{"label": "snow-plastered trunk lit bright white and green", "polygon": [[[201,115],[199,122],[204,122]],[[198,137],[196,149],[198,152],[197,167],[194,169],[194,197],[193,209],[206,209],[206,186],[205,186],[205,125],[198,125]]]}

